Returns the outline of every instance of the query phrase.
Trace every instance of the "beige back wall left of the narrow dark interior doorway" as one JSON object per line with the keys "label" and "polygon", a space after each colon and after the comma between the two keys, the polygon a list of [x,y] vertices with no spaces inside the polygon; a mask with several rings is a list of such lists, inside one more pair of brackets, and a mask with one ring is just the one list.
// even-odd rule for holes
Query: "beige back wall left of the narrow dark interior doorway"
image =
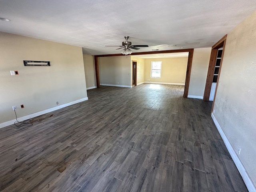
{"label": "beige back wall left of the narrow dark interior doorway", "polygon": [[100,84],[131,87],[131,56],[99,57]]}

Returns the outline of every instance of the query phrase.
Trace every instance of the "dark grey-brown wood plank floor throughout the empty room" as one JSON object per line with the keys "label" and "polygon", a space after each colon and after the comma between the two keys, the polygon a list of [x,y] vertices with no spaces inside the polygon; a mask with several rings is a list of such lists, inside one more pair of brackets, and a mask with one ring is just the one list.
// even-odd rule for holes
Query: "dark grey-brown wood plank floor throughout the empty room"
{"label": "dark grey-brown wood plank floor throughout the empty room", "polygon": [[88,101],[0,129],[3,192],[246,192],[211,117],[184,86],[88,90]]}

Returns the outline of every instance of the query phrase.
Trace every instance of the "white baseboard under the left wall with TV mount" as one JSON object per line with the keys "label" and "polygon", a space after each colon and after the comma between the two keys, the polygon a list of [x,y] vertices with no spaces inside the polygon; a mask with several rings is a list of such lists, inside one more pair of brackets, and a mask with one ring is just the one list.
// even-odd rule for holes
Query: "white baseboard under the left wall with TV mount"
{"label": "white baseboard under the left wall with TV mount", "polygon": [[[79,99],[79,100],[76,100],[76,101],[72,101],[72,102],[69,102],[69,103],[65,103],[65,104],[62,104],[62,105],[59,105],[59,106],[56,106],[56,107],[52,107],[50,109],[42,110],[42,111],[30,114],[30,115],[19,117],[18,120],[19,121],[24,121],[24,120],[27,120],[27,119],[31,119],[31,118],[34,118],[34,117],[37,117],[37,116],[40,116],[40,115],[43,115],[43,114],[46,114],[46,113],[64,108],[64,107],[67,107],[67,106],[70,106],[70,105],[80,103],[82,101],[86,101],[86,100],[88,100],[88,97],[82,98],[82,99]],[[16,122],[16,119],[0,123],[0,128],[4,128],[6,126],[12,125],[12,124],[14,124],[14,122]]]}

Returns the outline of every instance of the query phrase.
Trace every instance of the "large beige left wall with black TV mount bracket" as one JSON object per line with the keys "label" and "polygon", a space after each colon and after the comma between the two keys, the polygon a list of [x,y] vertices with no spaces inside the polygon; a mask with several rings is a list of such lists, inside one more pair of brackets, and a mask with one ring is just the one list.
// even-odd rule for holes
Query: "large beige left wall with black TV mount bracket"
{"label": "large beige left wall with black TV mount bracket", "polygon": [[[15,105],[21,117],[87,97],[82,48],[0,32],[0,53],[0,123],[15,119]],[[23,60],[51,66],[24,66]]]}

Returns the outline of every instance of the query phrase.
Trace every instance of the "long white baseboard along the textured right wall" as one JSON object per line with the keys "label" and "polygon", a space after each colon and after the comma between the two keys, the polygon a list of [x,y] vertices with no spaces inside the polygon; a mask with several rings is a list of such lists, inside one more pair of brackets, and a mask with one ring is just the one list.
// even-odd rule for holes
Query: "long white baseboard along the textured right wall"
{"label": "long white baseboard along the textured right wall", "polygon": [[248,189],[249,192],[256,192],[256,186],[254,186],[250,176],[248,175],[248,172],[246,171],[246,169],[244,168],[244,165],[242,164],[242,162],[240,161],[238,155],[236,154],[236,151],[234,150],[234,148],[232,147],[232,145],[230,144],[226,134],[224,133],[223,129],[221,128],[218,120],[216,119],[216,117],[214,116],[214,114],[212,113],[212,120],[214,121],[214,124],[216,125],[220,136],[222,138],[222,140],[224,141],[228,152],[230,153],[230,156],[232,157],[234,163],[236,164],[236,167],[238,169],[238,171],[240,172],[244,183],[246,184],[246,187]]}

